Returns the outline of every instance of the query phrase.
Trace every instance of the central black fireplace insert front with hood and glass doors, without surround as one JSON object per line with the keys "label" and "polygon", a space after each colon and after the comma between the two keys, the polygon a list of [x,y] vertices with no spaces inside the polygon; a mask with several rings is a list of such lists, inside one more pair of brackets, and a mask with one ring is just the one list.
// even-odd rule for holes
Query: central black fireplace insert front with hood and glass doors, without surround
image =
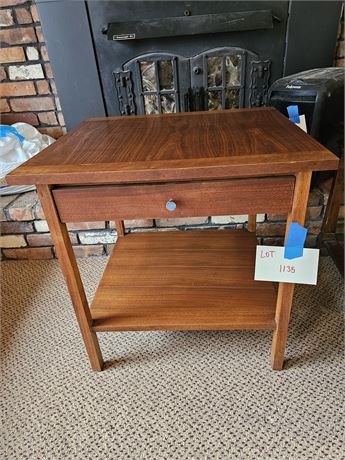
{"label": "central black fireplace insert front with hood and glass doors, without surround", "polygon": [[288,1],[87,2],[108,115],[261,106]]}

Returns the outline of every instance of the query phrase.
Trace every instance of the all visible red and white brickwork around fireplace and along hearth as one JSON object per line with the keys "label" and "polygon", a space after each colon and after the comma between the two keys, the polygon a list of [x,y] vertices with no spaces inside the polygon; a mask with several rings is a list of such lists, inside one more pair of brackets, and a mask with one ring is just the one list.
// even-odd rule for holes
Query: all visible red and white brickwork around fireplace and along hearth
{"label": "all visible red and white brickwork around fireplace and along hearth", "polygon": [[[32,2],[2,0],[0,9],[0,50],[3,68],[1,111],[2,123],[26,121],[42,132],[58,137],[64,132],[47,50],[40,29],[37,11]],[[337,42],[335,65],[344,66],[344,19]],[[307,221],[307,246],[316,244],[331,180],[310,193]],[[344,232],[344,205],[339,213],[338,232]],[[259,243],[283,242],[286,216],[259,215]],[[126,231],[158,231],[191,228],[245,228],[247,216],[198,217],[186,219],[156,219],[125,221]],[[45,259],[55,257],[47,222],[36,192],[0,197],[1,257],[8,259]],[[117,235],[113,222],[70,224],[70,237],[77,257],[108,254]]]}

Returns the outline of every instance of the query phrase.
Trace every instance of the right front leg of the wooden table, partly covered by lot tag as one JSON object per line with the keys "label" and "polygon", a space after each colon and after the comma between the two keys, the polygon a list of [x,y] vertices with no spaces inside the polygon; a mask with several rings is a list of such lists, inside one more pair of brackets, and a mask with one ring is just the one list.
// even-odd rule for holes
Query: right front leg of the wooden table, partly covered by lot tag
{"label": "right front leg of the wooden table, partly covered by lot tag", "polygon": [[[292,221],[298,222],[300,225],[304,224],[311,175],[312,173],[310,171],[300,172],[296,175],[292,209],[288,215],[286,223],[285,239]],[[276,325],[272,341],[272,368],[276,370],[282,369],[284,364],[284,351],[287,340],[294,287],[295,285],[293,283],[279,283],[275,315]]]}

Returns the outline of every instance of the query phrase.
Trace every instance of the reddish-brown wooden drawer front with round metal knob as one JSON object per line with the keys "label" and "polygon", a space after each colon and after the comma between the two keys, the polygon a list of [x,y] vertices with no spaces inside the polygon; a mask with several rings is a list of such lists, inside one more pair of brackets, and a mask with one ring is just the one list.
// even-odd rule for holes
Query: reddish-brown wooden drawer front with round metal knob
{"label": "reddish-brown wooden drawer front with round metal knob", "polygon": [[76,186],[55,188],[53,195],[62,222],[287,213],[292,206],[294,183],[293,176],[284,176]]}

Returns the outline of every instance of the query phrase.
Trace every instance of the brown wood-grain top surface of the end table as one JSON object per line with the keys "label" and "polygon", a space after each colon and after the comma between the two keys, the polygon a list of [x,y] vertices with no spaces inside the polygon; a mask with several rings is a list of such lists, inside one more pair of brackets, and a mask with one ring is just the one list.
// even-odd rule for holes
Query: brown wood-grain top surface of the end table
{"label": "brown wood-grain top surface of the end table", "polygon": [[91,118],[9,184],[220,179],[336,169],[338,158],[271,107]]}

